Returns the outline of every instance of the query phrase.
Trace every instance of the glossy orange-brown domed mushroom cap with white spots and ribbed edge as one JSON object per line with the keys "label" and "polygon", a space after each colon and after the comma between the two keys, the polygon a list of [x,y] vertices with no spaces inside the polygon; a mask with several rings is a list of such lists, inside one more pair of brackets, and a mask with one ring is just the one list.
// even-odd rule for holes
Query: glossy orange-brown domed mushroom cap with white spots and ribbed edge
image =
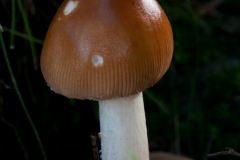
{"label": "glossy orange-brown domed mushroom cap with white spots and ribbed edge", "polygon": [[56,93],[110,99],[154,85],[172,52],[171,26],[155,0],[65,0],[46,35],[41,69]]}

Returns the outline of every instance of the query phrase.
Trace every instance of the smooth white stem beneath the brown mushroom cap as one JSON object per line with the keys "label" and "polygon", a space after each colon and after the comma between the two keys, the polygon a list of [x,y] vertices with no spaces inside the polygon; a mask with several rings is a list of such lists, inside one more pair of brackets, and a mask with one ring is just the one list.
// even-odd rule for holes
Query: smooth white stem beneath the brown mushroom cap
{"label": "smooth white stem beneath the brown mushroom cap", "polygon": [[149,160],[142,93],[99,101],[102,160]]}

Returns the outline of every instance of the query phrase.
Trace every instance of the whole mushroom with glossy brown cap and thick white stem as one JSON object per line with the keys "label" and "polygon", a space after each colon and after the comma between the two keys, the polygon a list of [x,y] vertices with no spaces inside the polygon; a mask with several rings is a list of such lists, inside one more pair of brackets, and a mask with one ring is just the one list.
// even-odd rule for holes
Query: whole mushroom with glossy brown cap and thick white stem
{"label": "whole mushroom with glossy brown cap and thick white stem", "polygon": [[155,0],[64,0],[41,70],[51,89],[99,101],[103,160],[148,160],[142,91],[167,71],[170,23]]}

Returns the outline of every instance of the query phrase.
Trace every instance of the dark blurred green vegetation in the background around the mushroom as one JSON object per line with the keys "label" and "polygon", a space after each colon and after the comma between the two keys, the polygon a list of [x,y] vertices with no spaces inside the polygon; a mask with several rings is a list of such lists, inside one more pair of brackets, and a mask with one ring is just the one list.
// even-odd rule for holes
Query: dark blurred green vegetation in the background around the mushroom
{"label": "dark blurred green vegetation in the background around the mushroom", "polygon": [[[97,103],[53,93],[39,68],[44,37],[61,2],[0,1],[4,30],[0,50],[1,160],[44,159],[19,95],[47,159],[93,159],[90,134],[99,132]],[[240,152],[240,1],[159,3],[172,24],[175,48],[168,72],[144,92],[150,150],[196,160],[210,159],[206,154],[225,147]],[[3,46],[15,79],[9,74]]]}

